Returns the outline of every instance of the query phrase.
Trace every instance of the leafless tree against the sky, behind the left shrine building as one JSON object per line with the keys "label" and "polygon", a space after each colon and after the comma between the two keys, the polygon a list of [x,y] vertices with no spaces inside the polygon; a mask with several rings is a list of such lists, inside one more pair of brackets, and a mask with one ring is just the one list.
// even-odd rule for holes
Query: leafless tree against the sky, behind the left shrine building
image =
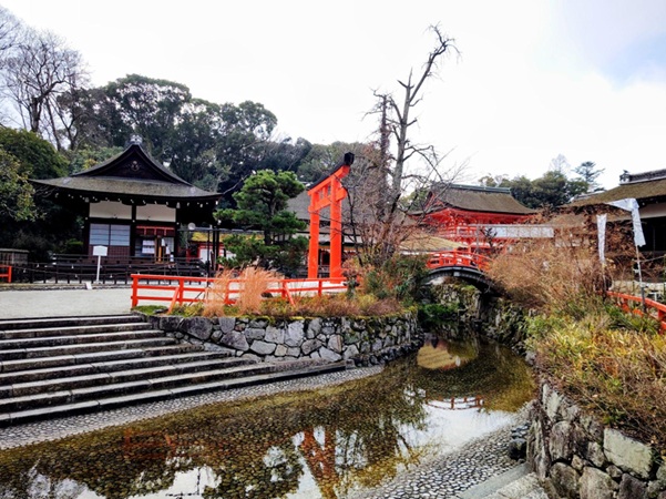
{"label": "leafless tree against the sky, behind the left shrine building", "polygon": [[3,68],[4,94],[13,102],[24,129],[63,149],[60,126],[65,115],[58,98],[88,82],[78,51],[51,32],[25,31]]}

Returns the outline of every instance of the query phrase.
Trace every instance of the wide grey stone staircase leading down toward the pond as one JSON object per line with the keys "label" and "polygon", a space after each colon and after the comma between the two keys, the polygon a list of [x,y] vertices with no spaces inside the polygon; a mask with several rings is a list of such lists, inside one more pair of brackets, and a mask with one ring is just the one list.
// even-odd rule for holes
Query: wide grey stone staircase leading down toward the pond
{"label": "wide grey stone staircase leading down toward the pond", "polygon": [[137,315],[0,320],[0,426],[342,369],[207,352]]}

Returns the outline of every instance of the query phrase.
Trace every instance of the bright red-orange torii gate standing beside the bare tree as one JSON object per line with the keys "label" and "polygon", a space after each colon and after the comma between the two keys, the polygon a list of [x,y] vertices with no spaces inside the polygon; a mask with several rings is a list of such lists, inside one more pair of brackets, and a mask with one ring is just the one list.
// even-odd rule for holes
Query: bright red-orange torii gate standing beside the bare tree
{"label": "bright red-orange torii gate standing beside the bare tree", "polygon": [[330,207],[330,272],[329,277],[342,277],[342,200],[347,190],[342,179],[349,174],[354,154],[346,153],[330,175],[308,190],[310,196],[310,246],[308,251],[308,278],[317,278],[319,271],[319,212]]}

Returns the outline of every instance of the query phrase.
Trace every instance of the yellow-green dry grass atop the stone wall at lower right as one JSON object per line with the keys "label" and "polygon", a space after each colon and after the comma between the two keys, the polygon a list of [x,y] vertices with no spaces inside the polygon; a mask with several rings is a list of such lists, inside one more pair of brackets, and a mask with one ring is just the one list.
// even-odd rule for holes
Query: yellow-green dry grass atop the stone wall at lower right
{"label": "yellow-green dry grass atop the stone wall at lower right", "polygon": [[[539,366],[560,388],[666,451],[666,337],[561,320],[535,342]],[[594,325],[597,324],[597,326]]]}

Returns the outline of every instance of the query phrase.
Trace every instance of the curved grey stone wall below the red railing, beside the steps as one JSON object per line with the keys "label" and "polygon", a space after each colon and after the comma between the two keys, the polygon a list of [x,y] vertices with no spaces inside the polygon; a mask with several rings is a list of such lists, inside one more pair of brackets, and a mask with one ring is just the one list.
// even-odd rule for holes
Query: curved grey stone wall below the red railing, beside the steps
{"label": "curved grey stone wall below the red railing, beside the steps", "polygon": [[416,313],[373,318],[153,317],[153,325],[185,342],[257,360],[304,358],[375,365],[422,344]]}

